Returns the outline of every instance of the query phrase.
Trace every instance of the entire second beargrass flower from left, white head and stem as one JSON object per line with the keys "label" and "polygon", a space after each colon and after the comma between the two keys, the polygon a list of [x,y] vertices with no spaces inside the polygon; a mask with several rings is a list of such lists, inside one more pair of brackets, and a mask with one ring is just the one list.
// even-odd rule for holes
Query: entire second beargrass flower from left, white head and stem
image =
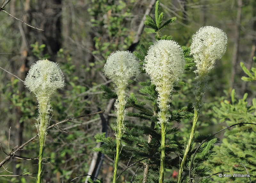
{"label": "entire second beargrass flower from left, white head and stem", "polygon": [[131,52],[116,51],[108,57],[104,66],[104,74],[116,84],[116,157],[113,175],[113,183],[116,183],[119,155],[121,153],[121,139],[124,134],[124,117],[126,114],[124,107],[127,102],[126,87],[131,77],[134,77],[135,80],[139,76],[139,63]]}

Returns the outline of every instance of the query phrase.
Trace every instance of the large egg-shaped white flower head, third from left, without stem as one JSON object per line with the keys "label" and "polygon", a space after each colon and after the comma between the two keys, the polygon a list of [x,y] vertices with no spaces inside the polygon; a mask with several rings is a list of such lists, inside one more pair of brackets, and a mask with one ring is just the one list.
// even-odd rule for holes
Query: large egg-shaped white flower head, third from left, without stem
{"label": "large egg-shaped white flower head, third from left, without stem", "polygon": [[175,41],[170,40],[160,40],[151,45],[145,62],[144,68],[158,92],[164,88],[172,90],[172,84],[183,73],[185,64],[182,48]]}

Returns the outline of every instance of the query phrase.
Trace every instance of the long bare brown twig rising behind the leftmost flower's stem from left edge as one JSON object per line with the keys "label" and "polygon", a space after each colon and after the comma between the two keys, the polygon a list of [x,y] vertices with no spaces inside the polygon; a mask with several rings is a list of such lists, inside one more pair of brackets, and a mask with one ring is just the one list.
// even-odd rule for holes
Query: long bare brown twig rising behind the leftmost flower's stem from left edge
{"label": "long bare brown twig rising behind the leftmost flower's stem from left edge", "polygon": [[[81,115],[78,117],[73,117],[73,118],[68,118],[65,119],[63,121],[60,121],[58,123],[54,123],[53,125],[49,126],[46,130],[49,130],[50,128],[59,125],[60,123],[64,123],[64,122],[71,122],[73,119],[77,119],[77,118],[81,118],[81,117],[85,117],[85,116],[89,116],[89,115],[94,115],[94,114],[99,114],[99,113],[103,113],[104,111],[100,111],[100,112],[96,112],[96,113],[91,113],[91,114],[87,114],[87,115]],[[32,137],[31,139],[29,139],[27,142],[25,142],[24,144],[22,144],[20,147],[16,146],[16,149],[12,152],[10,152],[7,157],[4,158],[4,160],[0,163],[0,168],[4,165],[4,163],[6,163],[9,159],[11,159],[12,157],[20,157],[20,156],[16,156],[15,153],[17,153],[18,151],[22,150],[23,147],[25,147],[29,142],[33,141],[34,139],[36,139],[38,137],[38,133]],[[1,145],[1,144],[0,144]],[[2,149],[3,150],[3,149]]]}

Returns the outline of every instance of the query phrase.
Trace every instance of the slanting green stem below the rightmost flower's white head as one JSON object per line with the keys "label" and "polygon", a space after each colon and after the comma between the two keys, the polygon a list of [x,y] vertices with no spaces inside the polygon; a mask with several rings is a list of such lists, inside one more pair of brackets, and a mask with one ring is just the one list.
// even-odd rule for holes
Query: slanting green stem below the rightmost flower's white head
{"label": "slanting green stem below the rightmost flower's white head", "polygon": [[181,183],[181,178],[182,178],[182,173],[183,173],[183,169],[184,169],[184,165],[187,159],[187,155],[188,152],[190,150],[190,146],[192,143],[192,139],[194,137],[195,131],[196,131],[196,123],[198,120],[198,116],[200,114],[201,108],[203,106],[202,104],[202,97],[203,97],[203,92],[205,89],[205,82],[206,82],[206,75],[205,77],[197,77],[197,83],[196,83],[196,90],[195,90],[195,95],[196,95],[196,102],[194,105],[194,119],[193,119],[193,124],[192,124],[192,128],[191,128],[191,133],[188,139],[188,145],[185,149],[181,164],[180,164],[180,170],[179,170],[179,177],[178,177],[178,183]]}

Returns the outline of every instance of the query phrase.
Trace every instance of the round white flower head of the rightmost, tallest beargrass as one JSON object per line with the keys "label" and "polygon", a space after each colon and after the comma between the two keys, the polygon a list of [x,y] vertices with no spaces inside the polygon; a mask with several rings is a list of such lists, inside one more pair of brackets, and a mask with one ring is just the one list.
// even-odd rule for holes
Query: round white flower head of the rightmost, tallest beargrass
{"label": "round white flower head of the rightmost, tallest beargrass", "polygon": [[190,53],[195,58],[198,75],[208,74],[214,67],[215,61],[226,52],[228,38],[219,28],[206,26],[200,28],[192,36]]}

